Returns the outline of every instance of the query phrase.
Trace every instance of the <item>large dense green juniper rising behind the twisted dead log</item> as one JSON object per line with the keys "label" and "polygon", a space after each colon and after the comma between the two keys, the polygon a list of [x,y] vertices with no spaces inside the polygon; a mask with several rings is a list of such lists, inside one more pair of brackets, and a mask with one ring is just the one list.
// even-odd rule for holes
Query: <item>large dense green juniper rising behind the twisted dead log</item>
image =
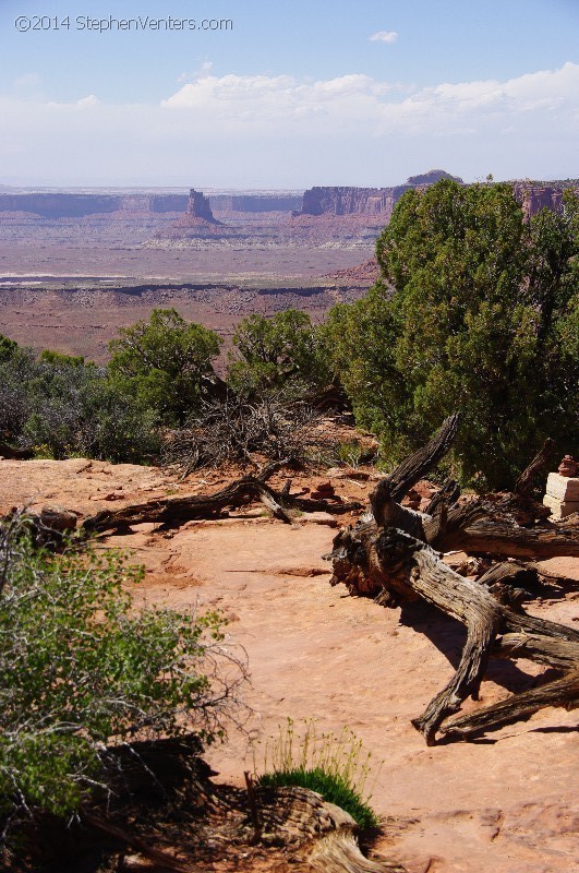
{"label": "large dense green juniper rising behind the twisted dead log", "polygon": [[579,200],[528,223],[511,186],[444,180],[398,201],[376,253],[381,282],[331,311],[326,344],[385,459],[457,408],[454,462],[482,489],[508,487],[547,435],[571,451]]}

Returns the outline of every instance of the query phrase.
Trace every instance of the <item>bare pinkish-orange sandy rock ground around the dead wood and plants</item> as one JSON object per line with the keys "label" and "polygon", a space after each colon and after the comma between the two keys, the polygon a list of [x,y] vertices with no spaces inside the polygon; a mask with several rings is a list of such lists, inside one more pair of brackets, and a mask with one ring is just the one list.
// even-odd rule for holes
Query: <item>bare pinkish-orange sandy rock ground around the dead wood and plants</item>
{"label": "bare pinkish-orange sandy rock ground around the dead wood and plants", "polygon": [[[360,499],[367,490],[366,483],[333,481],[343,497]],[[179,485],[153,468],[83,459],[4,461],[0,512],[32,498],[35,505],[58,502],[84,516],[219,485],[217,475]],[[145,564],[138,598],[226,612],[232,641],[249,656],[256,737],[276,733],[288,716],[314,717],[321,730],[348,725],[384,762],[372,801],[384,816],[376,849],[409,873],[579,869],[577,710],[544,709],[474,742],[426,748],[410,719],[451,675],[461,629],[425,606],[386,610],[331,588],[321,558],[335,534],[327,518],[302,516],[289,528],[255,510],[250,516],[166,533],[141,525],[106,545],[130,548]],[[576,584],[529,611],[571,623],[579,620],[579,560],[557,560],[556,566]],[[493,663],[482,704],[531,686],[540,671],[524,661]],[[258,748],[257,760],[261,754]],[[207,757],[220,779],[237,784],[253,765],[241,734]]]}

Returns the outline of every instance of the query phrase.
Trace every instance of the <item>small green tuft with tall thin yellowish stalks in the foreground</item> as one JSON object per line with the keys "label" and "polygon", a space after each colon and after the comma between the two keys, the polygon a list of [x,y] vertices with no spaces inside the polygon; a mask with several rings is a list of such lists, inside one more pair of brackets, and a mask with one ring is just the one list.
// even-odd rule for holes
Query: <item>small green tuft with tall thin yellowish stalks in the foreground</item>
{"label": "small green tuft with tall thin yellowish stalks in the foreground", "polygon": [[310,719],[304,736],[298,738],[294,722],[288,718],[280,726],[279,736],[266,744],[264,773],[258,775],[257,784],[309,788],[350,813],[361,828],[369,829],[379,824],[370,806],[372,793],[365,790],[371,758],[372,753],[363,751],[362,741],[348,727],[340,734],[331,731],[318,736],[315,720]]}

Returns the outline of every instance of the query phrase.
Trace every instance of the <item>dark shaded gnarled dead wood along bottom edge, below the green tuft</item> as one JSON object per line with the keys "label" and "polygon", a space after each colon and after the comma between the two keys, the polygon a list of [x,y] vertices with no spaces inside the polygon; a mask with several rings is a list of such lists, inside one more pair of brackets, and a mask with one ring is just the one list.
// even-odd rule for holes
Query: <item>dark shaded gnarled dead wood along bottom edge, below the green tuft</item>
{"label": "dark shaded gnarled dead wood along bottom edge, below the green tuft", "polygon": [[111,794],[97,792],[72,826],[38,824],[31,834],[37,860],[60,860],[62,869],[73,860],[76,869],[96,844],[109,864],[128,871],[200,873],[227,860],[240,871],[255,862],[280,873],[405,873],[395,861],[365,858],[353,818],[309,789],[256,785],[251,814],[248,792],[215,785],[198,752],[192,737],[105,752]]}

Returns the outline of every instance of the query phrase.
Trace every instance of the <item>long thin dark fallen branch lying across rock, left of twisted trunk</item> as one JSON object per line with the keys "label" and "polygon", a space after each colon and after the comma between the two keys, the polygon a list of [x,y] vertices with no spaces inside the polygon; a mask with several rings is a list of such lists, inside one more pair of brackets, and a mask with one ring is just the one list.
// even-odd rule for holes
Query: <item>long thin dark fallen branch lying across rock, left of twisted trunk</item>
{"label": "long thin dark fallen branch lying across rock, left of twisted trunk", "polygon": [[143,503],[132,503],[120,510],[104,510],[85,518],[82,528],[88,533],[98,533],[122,530],[143,522],[179,524],[194,518],[212,518],[228,506],[241,506],[248,499],[261,501],[276,518],[280,518],[286,524],[293,524],[293,518],[287,512],[288,509],[335,514],[362,509],[362,504],[357,502],[329,503],[324,500],[305,500],[278,492],[266,485],[265,478],[267,477],[264,474],[258,477],[248,476],[214,494],[154,498]]}

